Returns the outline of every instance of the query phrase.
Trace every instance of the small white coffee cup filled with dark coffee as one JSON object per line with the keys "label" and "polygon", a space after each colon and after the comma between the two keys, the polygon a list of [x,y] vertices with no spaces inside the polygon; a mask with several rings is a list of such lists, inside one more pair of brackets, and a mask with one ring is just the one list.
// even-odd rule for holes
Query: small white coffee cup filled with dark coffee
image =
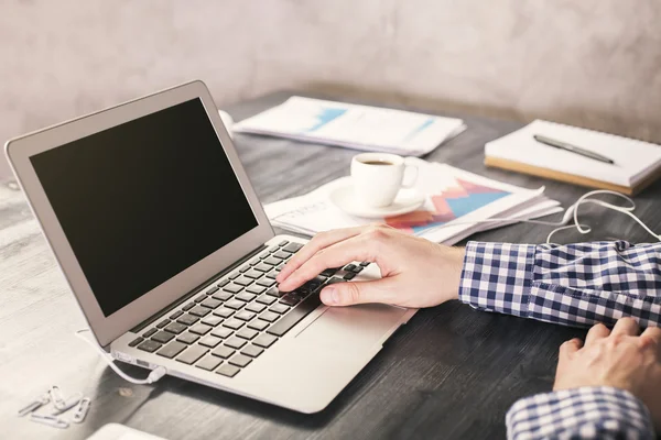
{"label": "small white coffee cup filled with dark coffee", "polygon": [[[415,169],[412,182],[403,184],[408,167]],[[407,165],[402,156],[389,153],[362,153],[351,160],[354,191],[361,204],[383,208],[392,204],[401,188],[410,188],[418,178],[418,168]]]}

